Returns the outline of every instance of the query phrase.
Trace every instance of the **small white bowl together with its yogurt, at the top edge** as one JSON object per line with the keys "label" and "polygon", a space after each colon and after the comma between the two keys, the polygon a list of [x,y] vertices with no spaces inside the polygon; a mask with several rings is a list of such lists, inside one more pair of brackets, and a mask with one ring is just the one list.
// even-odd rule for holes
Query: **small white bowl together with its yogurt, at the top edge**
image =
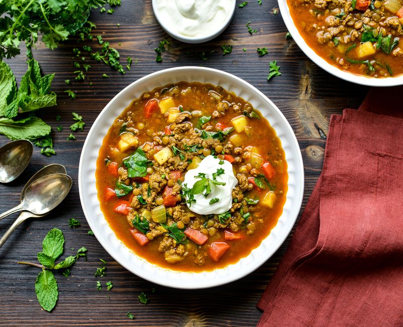
{"label": "small white bowl together with its yogurt, at the top edge", "polygon": [[203,43],[219,36],[234,16],[236,0],[152,0],[154,15],[173,38]]}

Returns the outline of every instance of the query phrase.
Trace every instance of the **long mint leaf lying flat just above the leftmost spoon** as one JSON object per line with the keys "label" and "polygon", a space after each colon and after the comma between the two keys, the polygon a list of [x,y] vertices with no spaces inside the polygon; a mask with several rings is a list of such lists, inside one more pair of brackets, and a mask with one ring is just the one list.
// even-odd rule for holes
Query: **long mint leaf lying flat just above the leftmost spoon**
{"label": "long mint leaf lying flat just above the leftmost spoon", "polygon": [[0,118],[0,134],[11,140],[35,140],[50,133],[50,126],[38,117],[27,117],[21,120]]}

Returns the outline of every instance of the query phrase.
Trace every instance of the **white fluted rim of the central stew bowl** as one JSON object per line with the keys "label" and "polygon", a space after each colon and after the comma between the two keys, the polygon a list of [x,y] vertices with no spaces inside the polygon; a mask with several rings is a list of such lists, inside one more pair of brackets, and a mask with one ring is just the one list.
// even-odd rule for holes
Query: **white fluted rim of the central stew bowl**
{"label": "white fluted rim of the central stew bowl", "polygon": [[[237,263],[213,271],[188,273],[161,268],[130,251],[115,235],[101,212],[95,170],[102,140],[117,116],[145,91],[179,81],[199,81],[220,85],[249,101],[270,122],[281,139],[288,163],[288,192],[283,214],[260,246]],[[304,193],[302,156],[294,132],[281,111],[260,91],[239,77],[205,67],[169,68],[138,79],[120,91],[101,111],[83,146],[79,167],[80,200],[87,221],[104,249],[123,267],[156,284],[176,288],[206,288],[239,279],[270,258],[294,226]]]}

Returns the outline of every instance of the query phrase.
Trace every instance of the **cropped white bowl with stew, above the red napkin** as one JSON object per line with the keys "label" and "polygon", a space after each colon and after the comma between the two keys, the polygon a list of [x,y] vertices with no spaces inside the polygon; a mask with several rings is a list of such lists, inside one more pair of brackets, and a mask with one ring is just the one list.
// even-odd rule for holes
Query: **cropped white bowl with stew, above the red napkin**
{"label": "cropped white bowl with stew, above the red napkin", "polygon": [[[388,1],[397,4],[400,0]],[[388,25],[397,22],[401,26],[403,19],[396,16],[400,14],[385,9],[386,2],[376,1],[375,8],[374,1],[357,0],[355,6],[364,6],[363,10],[347,13],[344,5],[338,6],[332,1],[323,2],[321,8],[319,0],[317,3],[314,0],[279,0],[278,3],[291,36],[322,69],[360,85],[388,87],[403,84],[403,34],[401,27],[393,30]],[[370,7],[365,11],[367,6]],[[394,7],[392,4],[395,12]],[[403,8],[403,3],[400,7]]]}

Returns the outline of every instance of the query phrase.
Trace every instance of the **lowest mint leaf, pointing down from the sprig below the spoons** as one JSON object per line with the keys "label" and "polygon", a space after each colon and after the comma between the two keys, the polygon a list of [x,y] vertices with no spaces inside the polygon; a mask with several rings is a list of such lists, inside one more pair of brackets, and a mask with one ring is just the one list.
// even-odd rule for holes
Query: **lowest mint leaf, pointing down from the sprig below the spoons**
{"label": "lowest mint leaf, pointing down from the sprig below the spoons", "polygon": [[59,295],[56,279],[50,270],[39,273],[35,282],[35,292],[41,307],[50,312],[56,305]]}

